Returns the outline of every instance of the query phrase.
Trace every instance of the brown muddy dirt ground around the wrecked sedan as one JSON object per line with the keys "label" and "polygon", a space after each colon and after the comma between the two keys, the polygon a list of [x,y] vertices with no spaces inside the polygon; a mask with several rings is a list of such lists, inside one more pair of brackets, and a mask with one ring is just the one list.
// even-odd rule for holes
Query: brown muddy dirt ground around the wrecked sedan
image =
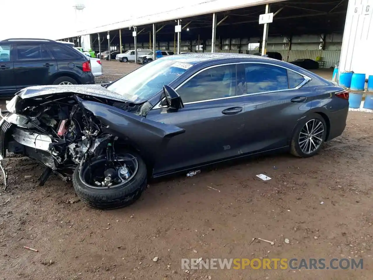
{"label": "brown muddy dirt ground around the wrecked sedan", "polygon": [[[111,80],[134,65],[104,67]],[[350,112],[342,136],[313,158],[274,155],[153,180],[138,202],[113,211],[70,203],[71,183],[52,177],[39,187],[39,165],[6,158],[0,279],[372,279],[372,120]],[[181,258],[363,258],[364,268],[185,272]]]}

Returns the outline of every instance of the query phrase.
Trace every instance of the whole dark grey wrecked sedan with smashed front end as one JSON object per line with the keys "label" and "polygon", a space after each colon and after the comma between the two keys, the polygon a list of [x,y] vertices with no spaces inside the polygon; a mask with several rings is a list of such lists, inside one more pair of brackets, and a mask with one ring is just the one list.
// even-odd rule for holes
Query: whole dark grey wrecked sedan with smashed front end
{"label": "whole dark grey wrecked sedan with smashed front end", "polygon": [[148,175],[268,151],[313,156],[344,131],[348,92],[280,60],[190,53],[104,87],[28,87],[6,108],[2,157],[37,159],[46,168],[40,184],[51,172],[72,178],[83,202],[111,209],[138,199]]}

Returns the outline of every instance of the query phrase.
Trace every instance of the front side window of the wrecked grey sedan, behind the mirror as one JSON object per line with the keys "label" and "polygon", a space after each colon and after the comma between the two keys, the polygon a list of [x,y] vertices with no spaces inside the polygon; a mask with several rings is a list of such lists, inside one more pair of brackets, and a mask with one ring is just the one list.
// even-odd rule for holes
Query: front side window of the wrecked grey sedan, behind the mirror
{"label": "front side window of the wrecked grey sedan, behind the mirror", "polygon": [[235,91],[235,65],[206,69],[177,90],[184,103],[235,96]]}

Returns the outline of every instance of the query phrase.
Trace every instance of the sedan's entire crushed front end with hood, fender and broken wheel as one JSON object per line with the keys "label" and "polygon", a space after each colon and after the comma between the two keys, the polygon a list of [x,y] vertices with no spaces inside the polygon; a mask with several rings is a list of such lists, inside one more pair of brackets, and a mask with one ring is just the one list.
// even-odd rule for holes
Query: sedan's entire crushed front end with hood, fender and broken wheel
{"label": "sedan's entire crushed front end with hood, fender and broken wheel", "polygon": [[145,118],[150,102],[133,103],[100,85],[48,85],[19,91],[0,111],[0,169],[6,152],[35,159],[72,180],[79,198],[98,209],[126,206],[140,197],[148,171],[183,128]]}

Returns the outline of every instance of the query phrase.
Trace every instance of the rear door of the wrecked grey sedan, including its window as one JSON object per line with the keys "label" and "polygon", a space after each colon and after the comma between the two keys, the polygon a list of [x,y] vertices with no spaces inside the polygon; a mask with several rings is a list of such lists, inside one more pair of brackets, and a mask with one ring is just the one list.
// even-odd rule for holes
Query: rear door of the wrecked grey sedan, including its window
{"label": "rear door of the wrecked grey sedan, including its window", "polygon": [[243,154],[285,147],[297,121],[311,109],[310,78],[270,63],[245,63],[237,81],[245,102]]}

